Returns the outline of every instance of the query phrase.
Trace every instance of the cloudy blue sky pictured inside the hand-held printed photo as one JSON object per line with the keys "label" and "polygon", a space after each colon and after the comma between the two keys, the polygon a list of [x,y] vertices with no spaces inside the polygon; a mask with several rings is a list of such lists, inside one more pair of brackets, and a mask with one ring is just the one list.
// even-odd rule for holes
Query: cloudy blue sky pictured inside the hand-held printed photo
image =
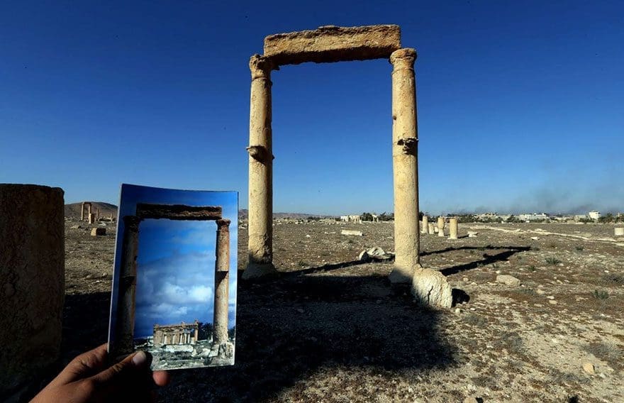
{"label": "cloudy blue sky pictured inside the hand-held printed photo", "polygon": [[[192,192],[123,185],[120,218],[135,214],[139,202],[222,206],[230,219],[229,326],[235,326],[238,200],[235,192]],[[123,233],[123,221],[119,224]],[[122,237],[116,239],[115,270]],[[216,223],[146,219],[139,226],[135,336],[151,336],[154,324],[213,322]],[[117,276],[114,279],[116,282]],[[116,301],[116,287],[113,287]],[[113,311],[116,307],[113,307]]]}

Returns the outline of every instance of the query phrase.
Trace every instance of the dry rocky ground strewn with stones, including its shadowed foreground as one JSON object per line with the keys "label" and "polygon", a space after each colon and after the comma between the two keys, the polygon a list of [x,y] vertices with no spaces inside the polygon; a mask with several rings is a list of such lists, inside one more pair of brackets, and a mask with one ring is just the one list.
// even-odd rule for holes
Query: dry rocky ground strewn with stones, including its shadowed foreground
{"label": "dry rocky ground strewn with stones, including its shadowed foreground", "polygon": [[[115,238],[111,226],[95,237],[75,225],[65,362],[106,342]],[[160,399],[624,402],[624,241],[613,226],[460,224],[460,237],[468,230],[477,238],[422,236],[423,266],[467,294],[428,309],[391,287],[391,263],[357,260],[366,248],[393,250],[391,223],[277,222],[280,274],[239,282],[236,364],[175,371]],[[241,270],[246,243],[243,225]]]}

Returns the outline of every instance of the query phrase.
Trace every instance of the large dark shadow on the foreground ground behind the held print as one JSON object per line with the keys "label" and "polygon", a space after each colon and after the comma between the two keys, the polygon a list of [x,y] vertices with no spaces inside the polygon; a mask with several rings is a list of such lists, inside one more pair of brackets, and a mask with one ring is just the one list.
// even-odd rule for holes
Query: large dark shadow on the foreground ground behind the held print
{"label": "large dark shadow on the foreground ground behind the held print", "polygon": [[[66,360],[106,341],[109,298],[102,292],[67,296]],[[386,276],[239,282],[237,309],[236,364],[174,371],[162,399],[262,402],[336,368],[364,368],[391,379],[396,370],[456,362],[455,348],[438,333],[441,313],[417,307],[408,290],[390,287]]]}

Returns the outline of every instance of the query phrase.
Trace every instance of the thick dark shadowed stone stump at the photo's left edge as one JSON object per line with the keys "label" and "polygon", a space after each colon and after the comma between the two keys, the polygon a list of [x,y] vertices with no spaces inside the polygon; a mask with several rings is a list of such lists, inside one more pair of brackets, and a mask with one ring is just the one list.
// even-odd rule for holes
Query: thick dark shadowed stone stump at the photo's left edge
{"label": "thick dark shadowed stone stump at the photo's left edge", "polygon": [[0,400],[57,360],[65,297],[63,190],[0,184]]}

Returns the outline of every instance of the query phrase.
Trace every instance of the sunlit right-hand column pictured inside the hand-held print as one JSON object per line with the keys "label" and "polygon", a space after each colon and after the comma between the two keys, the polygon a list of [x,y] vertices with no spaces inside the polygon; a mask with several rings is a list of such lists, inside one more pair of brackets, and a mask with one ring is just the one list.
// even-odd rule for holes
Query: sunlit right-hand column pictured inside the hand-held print
{"label": "sunlit right-hand column pictured inside the hand-held print", "polygon": [[230,288],[230,220],[217,220],[215,261],[214,342],[228,341],[228,294]]}

